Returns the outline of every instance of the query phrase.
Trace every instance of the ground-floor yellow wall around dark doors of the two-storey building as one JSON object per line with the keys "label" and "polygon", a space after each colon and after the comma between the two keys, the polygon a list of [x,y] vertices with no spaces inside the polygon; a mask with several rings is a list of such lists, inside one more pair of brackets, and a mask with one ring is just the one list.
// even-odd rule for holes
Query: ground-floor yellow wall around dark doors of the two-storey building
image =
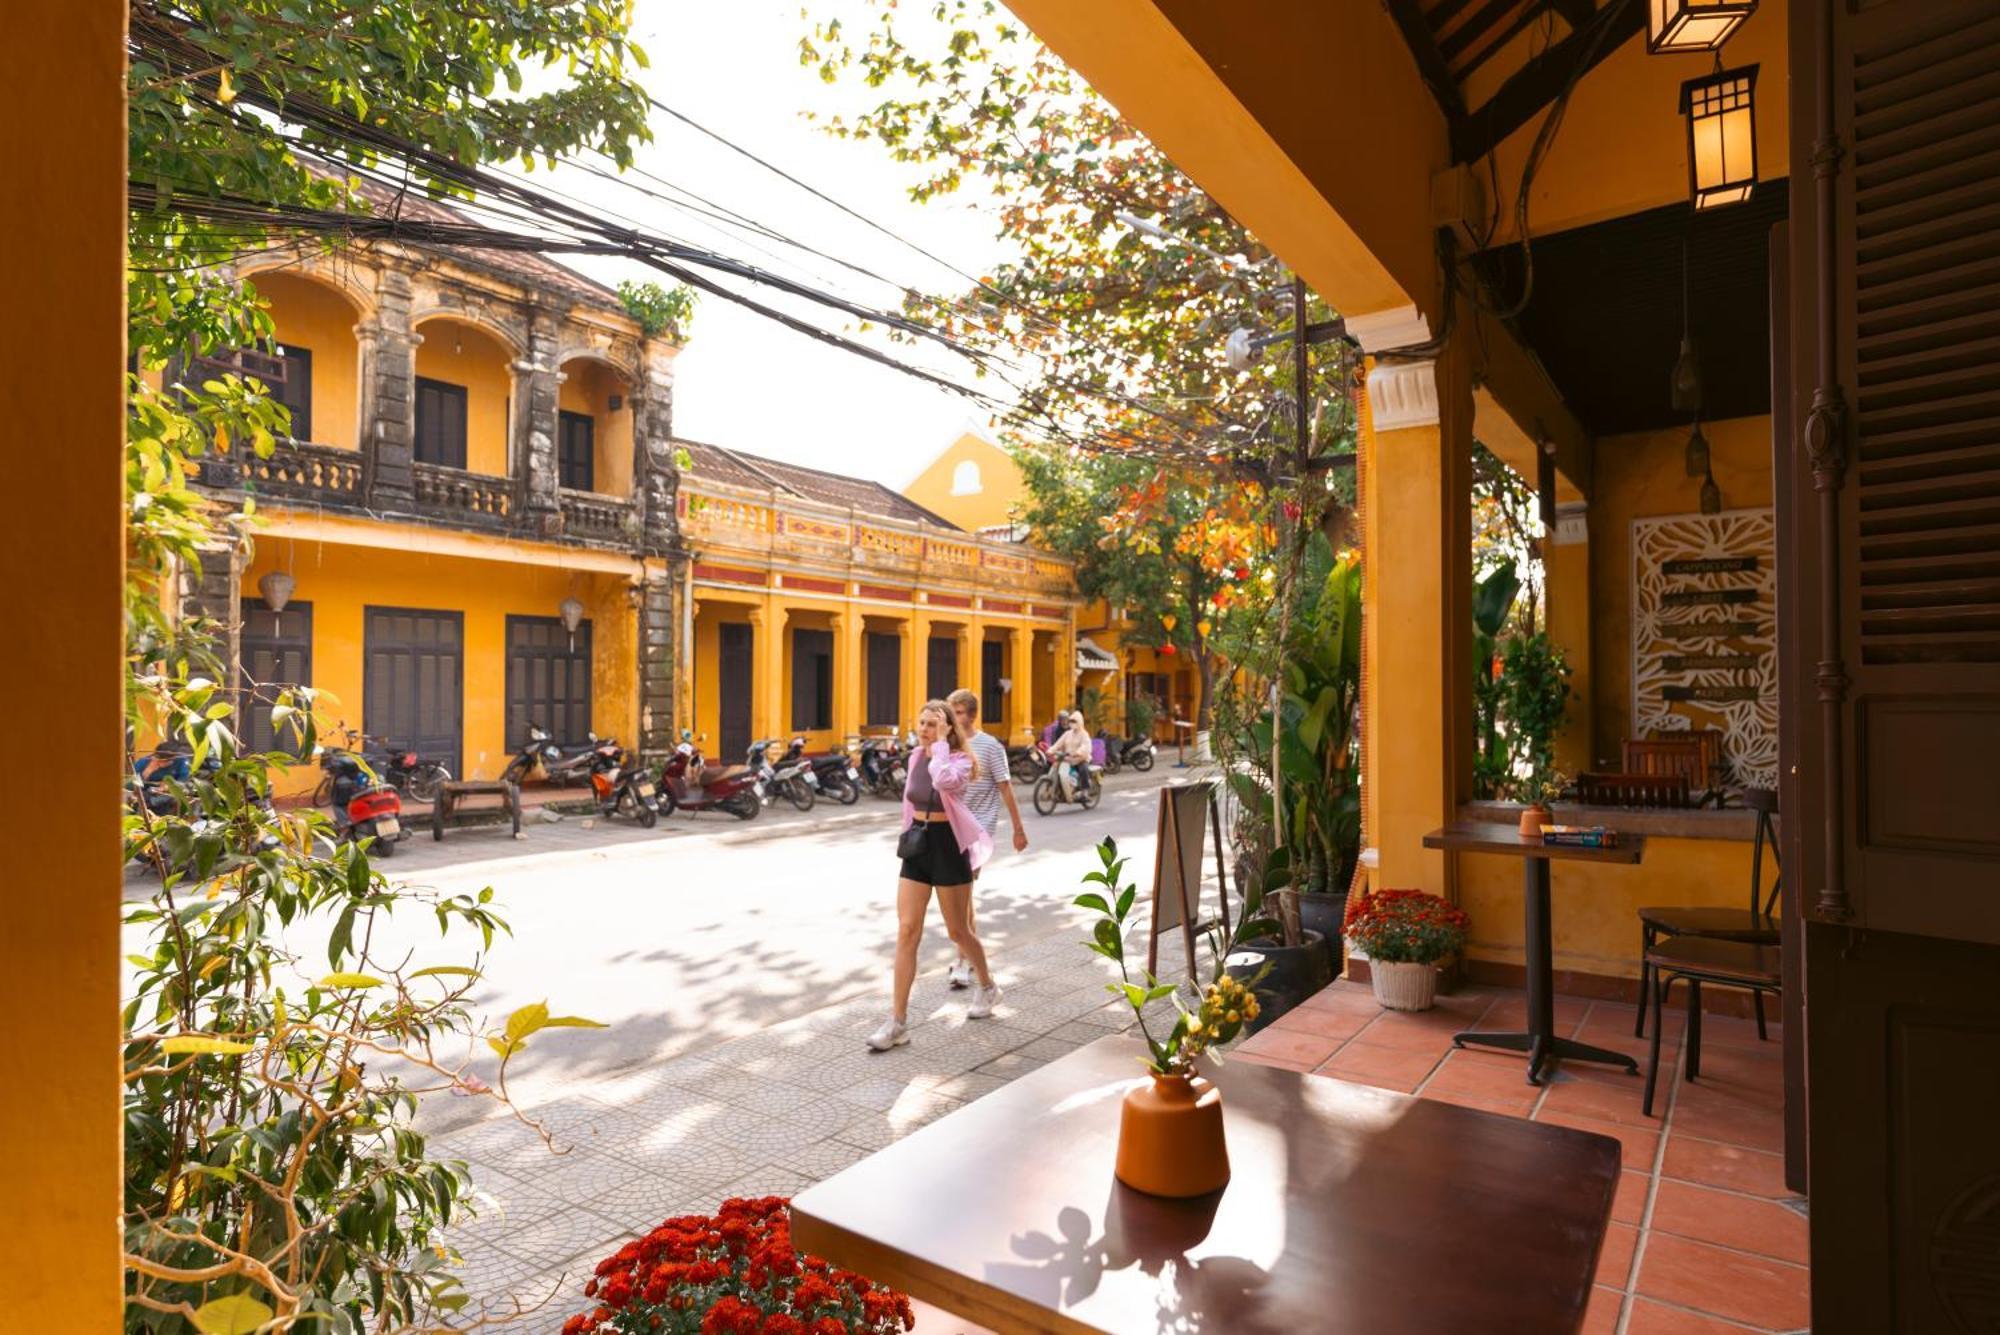
{"label": "ground-floor yellow wall around dark doors of the two-storey building", "polygon": [[[292,602],[312,604],[312,685],[332,695],[322,695],[318,707],[322,727],[338,721],[360,727],[366,715],[364,608],[462,612],[458,777],[498,775],[512,755],[506,739],[506,618],[556,616],[556,606],[574,596],[592,624],[592,727],[628,747],[638,741],[638,614],[620,576],[266,538],[244,572],[246,598],[256,598],[256,582],[268,570],[288,570],[298,580]],[[310,789],[316,781],[316,769],[300,767],[282,791]]]}

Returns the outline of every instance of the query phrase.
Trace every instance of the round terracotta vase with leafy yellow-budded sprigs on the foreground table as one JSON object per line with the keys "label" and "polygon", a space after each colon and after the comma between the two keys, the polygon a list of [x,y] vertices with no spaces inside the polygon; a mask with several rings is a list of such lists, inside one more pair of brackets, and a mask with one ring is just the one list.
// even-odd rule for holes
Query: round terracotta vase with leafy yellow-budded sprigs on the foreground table
{"label": "round terracotta vase with leafy yellow-budded sprigs on the foreground table", "polygon": [[[1228,1145],[1222,1139],[1222,1091],[1200,1077],[1200,1059],[1234,1041],[1258,1017],[1262,1005],[1252,991],[1262,975],[1248,983],[1228,973],[1228,949],[1214,951],[1216,969],[1206,989],[1188,983],[1162,983],[1152,973],[1132,979],[1124,957],[1124,935],[1132,915],[1138,885],[1120,887],[1126,859],[1118,845],[1104,839],[1098,845],[1098,867],[1084,881],[1100,889],[1084,891],[1076,905],[1096,913],[1090,951],[1118,965],[1118,981],[1104,989],[1124,999],[1138,1017],[1146,1039],[1148,1079],[1126,1089],[1118,1113],[1116,1175],[1128,1187],[1164,1197],[1196,1197],[1220,1191],[1230,1179]],[[1244,903],[1236,937],[1276,929],[1276,923],[1256,917],[1262,895]],[[1194,961],[1188,961],[1190,973]],[[1164,1037],[1154,1035],[1146,1007],[1172,997],[1174,1025]]]}

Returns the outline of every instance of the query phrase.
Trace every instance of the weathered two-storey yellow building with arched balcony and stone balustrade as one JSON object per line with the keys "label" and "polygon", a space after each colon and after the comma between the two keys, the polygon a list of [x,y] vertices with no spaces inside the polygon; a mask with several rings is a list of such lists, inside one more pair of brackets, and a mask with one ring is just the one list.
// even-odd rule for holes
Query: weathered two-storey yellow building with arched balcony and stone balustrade
{"label": "weathered two-storey yellow building with arched balcony and stone balustrade", "polygon": [[530,723],[662,751],[678,346],[540,256],[376,244],[240,274],[282,356],[230,366],[292,408],[294,440],[204,474],[262,524],[192,602],[230,630],[252,743],[274,741],[272,689],[302,683],[322,727],[458,777],[494,777]]}

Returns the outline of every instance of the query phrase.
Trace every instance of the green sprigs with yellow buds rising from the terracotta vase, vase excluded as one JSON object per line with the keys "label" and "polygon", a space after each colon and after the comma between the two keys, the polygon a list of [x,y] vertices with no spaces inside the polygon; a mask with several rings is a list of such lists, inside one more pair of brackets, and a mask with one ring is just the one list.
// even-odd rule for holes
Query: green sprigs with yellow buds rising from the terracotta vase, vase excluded
{"label": "green sprigs with yellow buds rising from the terracotta vase, vase excluded", "polygon": [[[1124,875],[1126,857],[1118,855],[1118,843],[1106,837],[1098,843],[1098,869],[1084,875],[1084,881],[1098,885],[1100,889],[1084,891],[1076,895],[1076,907],[1090,909],[1098,915],[1092,923],[1090,939],[1084,945],[1098,955],[1104,955],[1118,965],[1116,983],[1104,983],[1104,991],[1114,997],[1122,997],[1132,1013],[1138,1017],[1138,1029],[1146,1039],[1146,1051],[1150,1059],[1146,1069],[1154,1075],[1192,1075],[1196,1061],[1204,1053],[1216,1053],[1216,1049],[1234,1041],[1246,1023],[1258,1017],[1258,999],[1252,995],[1266,973],[1270,973],[1270,963],[1266,963],[1248,981],[1230,977],[1226,971],[1226,961],[1232,949],[1244,941],[1254,941],[1260,935],[1268,935],[1278,929],[1278,923],[1266,917],[1258,917],[1262,907],[1262,891],[1246,887],[1244,909],[1236,921],[1236,929],[1224,943],[1220,939],[1220,927],[1214,931],[1210,945],[1214,947],[1214,977],[1206,989],[1196,991],[1194,983],[1162,983],[1152,973],[1140,971],[1142,983],[1132,981],[1132,967],[1124,957],[1124,937],[1126,925],[1132,917],[1132,901],[1138,899],[1138,885],[1120,885]],[[1190,973],[1194,961],[1188,961]],[[1164,1039],[1152,1035],[1152,1025],[1146,1023],[1146,1007],[1154,1001],[1174,999],[1174,1027],[1168,1029]],[[1194,1003],[1194,1009],[1188,1003]],[[1220,1059],[1220,1053],[1218,1053]]]}

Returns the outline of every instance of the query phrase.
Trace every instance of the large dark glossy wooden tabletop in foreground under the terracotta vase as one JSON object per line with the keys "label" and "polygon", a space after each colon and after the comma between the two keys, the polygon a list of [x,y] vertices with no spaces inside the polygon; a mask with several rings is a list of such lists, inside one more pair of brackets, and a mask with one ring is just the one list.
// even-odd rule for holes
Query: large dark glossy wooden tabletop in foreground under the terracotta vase
{"label": "large dark glossy wooden tabletop in foreground under the terracotta vase", "polygon": [[798,1249],[1004,1333],[1582,1323],[1618,1141],[1232,1061],[1234,1177],[1166,1201],[1112,1177],[1140,1053],[1098,1039],[802,1191]]}

